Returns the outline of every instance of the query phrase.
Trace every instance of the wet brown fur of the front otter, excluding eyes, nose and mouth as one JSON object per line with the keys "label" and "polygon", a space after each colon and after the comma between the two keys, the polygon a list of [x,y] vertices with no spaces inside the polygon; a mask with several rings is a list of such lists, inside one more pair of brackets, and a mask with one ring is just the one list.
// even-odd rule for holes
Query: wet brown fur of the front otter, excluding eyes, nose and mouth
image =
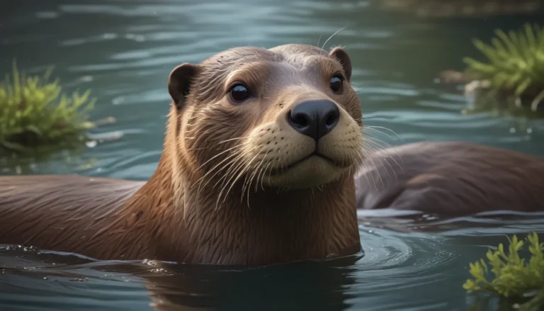
{"label": "wet brown fur of the front otter, excluding eyes, nose and mouth", "polygon": [[[334,74],[345,78],[333,94]],[[361,103],[340,48],[242,47],[169,79],[164,153],[147,183],[84,176],[0,178],[0,243],[97,259],[275,264],[360,251],[353,171]],[[234,104],[243,81],[254,98]],[[290,128],[300,101],[328,99],[336,128],[314,140]],[[312,157],[285,169],[314,150]]]}

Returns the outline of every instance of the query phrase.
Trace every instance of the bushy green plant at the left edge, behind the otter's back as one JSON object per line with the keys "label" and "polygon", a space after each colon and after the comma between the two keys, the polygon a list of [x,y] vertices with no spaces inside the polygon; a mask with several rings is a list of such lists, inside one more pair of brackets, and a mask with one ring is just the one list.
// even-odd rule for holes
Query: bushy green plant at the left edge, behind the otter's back
{"label": "bushy green plant at the left edge, behind the otter's back", "polygon": [[94,108],[90,91],[62,93],[58,79],[26,77],[13,62],[11,77],[0,82],[0,149],[24,152],[42,146],[70,145],[84,140],[95,124],[86,113]]}

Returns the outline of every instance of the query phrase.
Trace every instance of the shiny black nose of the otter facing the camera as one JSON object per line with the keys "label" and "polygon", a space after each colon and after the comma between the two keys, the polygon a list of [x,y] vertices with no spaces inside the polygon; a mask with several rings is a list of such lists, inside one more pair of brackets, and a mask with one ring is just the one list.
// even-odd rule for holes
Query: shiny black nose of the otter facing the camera
{"label": "shiny black nose of the otter facing the camera", "polygon": [[291,127],[314,140],[330,132],[340,118],[340,111],[332,101],[303,101],[287,113]]}

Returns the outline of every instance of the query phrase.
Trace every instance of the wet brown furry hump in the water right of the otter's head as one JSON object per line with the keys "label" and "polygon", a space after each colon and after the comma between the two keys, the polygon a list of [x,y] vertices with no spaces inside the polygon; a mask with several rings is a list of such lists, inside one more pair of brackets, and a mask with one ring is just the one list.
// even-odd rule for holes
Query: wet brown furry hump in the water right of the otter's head
{"label": "wet brown furry hump in the water right of the otter's head", "polygon": [[467,215],[544,210],[544,159],[467,142],[419,142],[365,159],[357,207]]}

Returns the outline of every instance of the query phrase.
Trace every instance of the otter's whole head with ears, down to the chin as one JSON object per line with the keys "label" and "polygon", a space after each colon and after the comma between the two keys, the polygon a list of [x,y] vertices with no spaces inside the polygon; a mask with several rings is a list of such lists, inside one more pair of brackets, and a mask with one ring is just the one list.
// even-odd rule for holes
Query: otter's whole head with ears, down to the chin
{"label": "otter's whole head with ears, down to the chin", "polygon": [[241,47],[183,64],[169,81],[177,156],[217,186],[309,188],[347,177],[363,160],[350,78],[339,47]]}

